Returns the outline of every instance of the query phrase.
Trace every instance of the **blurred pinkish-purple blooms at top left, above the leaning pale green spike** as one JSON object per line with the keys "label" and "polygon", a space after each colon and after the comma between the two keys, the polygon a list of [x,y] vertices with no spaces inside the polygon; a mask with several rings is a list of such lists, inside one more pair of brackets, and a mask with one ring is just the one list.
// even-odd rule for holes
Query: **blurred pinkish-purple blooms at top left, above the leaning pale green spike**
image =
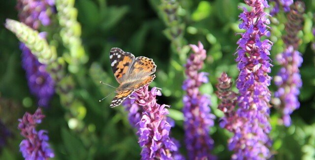
{"label": "blurred pinkish-purple blooms at top left, above the leaning pale green spike", "polygon": [[49,16],[53,13],[55,0],[18,0],[16,8],[21,22],[37,30],[42,24],[50,24]]}

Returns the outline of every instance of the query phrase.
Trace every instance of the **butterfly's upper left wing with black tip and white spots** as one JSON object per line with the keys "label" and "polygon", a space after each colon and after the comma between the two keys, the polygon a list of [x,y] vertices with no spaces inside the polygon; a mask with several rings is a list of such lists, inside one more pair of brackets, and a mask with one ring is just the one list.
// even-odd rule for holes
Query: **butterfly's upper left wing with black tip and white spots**
{"label": "butterfly's upper left wing with black tip and white spots", "polygon": [[130,70],[134,56],[129,52],[124,52],[120,48],[112,48],[109,54],[110,63],[114,76],[118,83],[122,83],[126,79],[126,74]]}

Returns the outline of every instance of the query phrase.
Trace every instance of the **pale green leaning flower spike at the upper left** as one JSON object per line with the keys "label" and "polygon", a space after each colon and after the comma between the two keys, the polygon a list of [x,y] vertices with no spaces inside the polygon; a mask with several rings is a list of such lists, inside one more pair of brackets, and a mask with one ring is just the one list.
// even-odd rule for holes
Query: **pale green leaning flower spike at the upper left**
{"label": "pale green leaning flower spike at the upper left", "polygon": [[51,64],[56,60],[56,49],[50,47],[46,39],[41,38],[37,31],[11,19],[6,19],[5,27],[13,32],[21,42],[25,43],[40,63]]}

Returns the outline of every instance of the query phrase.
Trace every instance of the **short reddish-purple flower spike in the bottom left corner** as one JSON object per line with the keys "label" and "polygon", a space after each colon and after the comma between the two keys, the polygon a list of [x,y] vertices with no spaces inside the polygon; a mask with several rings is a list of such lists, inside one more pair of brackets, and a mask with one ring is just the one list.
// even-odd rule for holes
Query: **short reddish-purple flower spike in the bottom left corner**
{"label": "short reddish-purple flower spike in the bottom left corner", "polygon": [[25,160],[47,160],[55,155],[48,144],[46,130],[37,131],[35,128],[45,116],[38,108],[34,114],[26,112],[22,119],[19,119],[21,135],[26,139],[20,143],[20,152]]}

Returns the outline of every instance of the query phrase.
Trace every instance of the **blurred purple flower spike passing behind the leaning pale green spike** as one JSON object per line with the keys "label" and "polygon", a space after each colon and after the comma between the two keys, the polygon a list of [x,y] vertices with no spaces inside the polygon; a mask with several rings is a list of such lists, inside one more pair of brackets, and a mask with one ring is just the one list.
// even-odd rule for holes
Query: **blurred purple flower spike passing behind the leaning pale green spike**
{"label": "blurred purple flower spike passing behind the leaning pale green spike", "polygon": [[[18,0],[16,8],[19,11],[19,19],[21,22],[37,30],[40,23],[44,26],[50,24],[49,10],[55,0]],[[45,33],[41,33],[45,38]],[[37,97],[38,105],[48,107],[51,97],[55,93],[55,81],[46,71],[46,65],[41,64],[32,54],[25,44],[21,43],[22,50],[22,66],[26,71],[31,94]]]}

